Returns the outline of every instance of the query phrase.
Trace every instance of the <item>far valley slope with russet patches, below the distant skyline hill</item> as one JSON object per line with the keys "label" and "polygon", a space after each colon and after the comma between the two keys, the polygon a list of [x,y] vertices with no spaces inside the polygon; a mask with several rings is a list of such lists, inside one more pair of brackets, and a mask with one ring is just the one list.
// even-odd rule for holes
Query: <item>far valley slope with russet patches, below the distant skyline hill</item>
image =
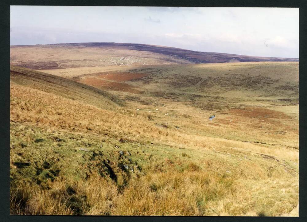
{"label": "far valley slope with russet patches, below the distant skyline hill", "polygon": [[[99,80],[116,83],[116,78],[106,79],[111,74],[146,73],[140,79],[124,81],[142,94],[122,92],[117,88],[112,92],[131,103],[134,110],[141,109],[137,113],[146,115],[151,111],[156,123],[180,126],[184,131],[178,131],[183,134],[192,131],[201,136],[298,148],[298,63],[119,66],[110,69],[73,68],[62,72],[80,82],[94,80],[95,87],[106,90],[110,90],[109,85],[96,83]],[[60,70],[46,72],[62,75]],[[75,75],[71,76],[72,73]],[[208,122],[208,116],[213,113],[218,118],[214,123]]]}

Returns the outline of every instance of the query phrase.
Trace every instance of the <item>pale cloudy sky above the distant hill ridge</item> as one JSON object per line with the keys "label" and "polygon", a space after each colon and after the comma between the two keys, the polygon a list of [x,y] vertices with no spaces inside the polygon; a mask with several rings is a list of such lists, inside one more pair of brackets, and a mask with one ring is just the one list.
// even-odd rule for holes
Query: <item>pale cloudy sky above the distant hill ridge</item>
{"label": "pale cloudy sky above the distant hill ridge", "polygon": [[299,57],[298,8],[11,6],[10,45],[121,42]]}

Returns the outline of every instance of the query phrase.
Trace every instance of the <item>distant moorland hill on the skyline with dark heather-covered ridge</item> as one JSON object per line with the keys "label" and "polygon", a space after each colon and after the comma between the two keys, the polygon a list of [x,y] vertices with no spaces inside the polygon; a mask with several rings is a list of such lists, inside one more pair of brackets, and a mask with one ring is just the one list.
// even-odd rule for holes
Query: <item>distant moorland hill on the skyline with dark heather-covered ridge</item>
{"label": "distant moorland hill on the skyline with dark heather-covered ridge", "polygon": [[31,69],[110,65],[199,64],[252,61],[298,61],[297,58],[198,52],[130,43],[67,43],[10,47],[11,64]]}

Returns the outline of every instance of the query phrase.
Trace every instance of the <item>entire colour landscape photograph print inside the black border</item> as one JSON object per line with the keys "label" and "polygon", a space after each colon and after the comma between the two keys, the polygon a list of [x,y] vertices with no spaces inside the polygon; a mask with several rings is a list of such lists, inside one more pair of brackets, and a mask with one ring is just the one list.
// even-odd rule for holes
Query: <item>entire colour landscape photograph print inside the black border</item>
{"label": "entire colour landscape photograph print inside the black border", "polygon": [[299,8],[8,19],[10,215],[299,216]]}

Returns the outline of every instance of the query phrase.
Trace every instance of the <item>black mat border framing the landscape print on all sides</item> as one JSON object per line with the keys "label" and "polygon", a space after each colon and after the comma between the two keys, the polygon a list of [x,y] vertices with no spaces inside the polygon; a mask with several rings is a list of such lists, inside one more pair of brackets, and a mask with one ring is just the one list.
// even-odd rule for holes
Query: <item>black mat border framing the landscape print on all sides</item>
{"label": "black mat border framing the landscape print on all sides", "polygon": [[[307,6],[306,0],[185,0],[185,1],[150,1],[150,0],[11,0],[0,2],[0,221],[307,221],[306,217],[306,57],[307,57]],[[9,126],[10,126],[10,5],[63,5],[63,6],[197,6],[197,7],[299,7],[300,19],[300,190],[299,217],[160,217],[160,216],[10,216],[9,215]]]}

